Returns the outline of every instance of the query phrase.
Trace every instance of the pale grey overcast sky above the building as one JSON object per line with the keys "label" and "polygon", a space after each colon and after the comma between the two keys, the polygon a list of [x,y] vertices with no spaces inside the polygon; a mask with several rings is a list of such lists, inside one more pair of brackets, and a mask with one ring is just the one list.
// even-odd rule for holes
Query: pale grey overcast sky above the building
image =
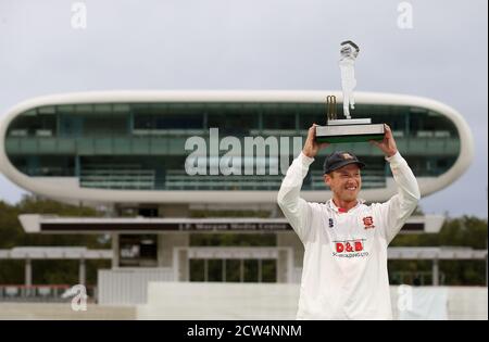
{"label": "pale grey overcast sky above the building", "polygon": [[[487,0],[0,0],[0,115],[36,96],[117,89],[339,89],[338,45],[361,47],[358,91],[422,96],[468,122],[475,161],[427,213],[487,217]],[[0,176],[0,200],[23,191]]]}

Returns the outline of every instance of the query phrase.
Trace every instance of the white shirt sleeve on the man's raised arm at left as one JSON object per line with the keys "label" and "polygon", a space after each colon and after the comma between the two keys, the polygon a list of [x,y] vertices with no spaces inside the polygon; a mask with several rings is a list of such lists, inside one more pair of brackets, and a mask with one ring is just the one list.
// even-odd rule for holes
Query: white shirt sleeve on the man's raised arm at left
{"label": "white shirt sleeve on the man's raised arm at left", "polygon": [[278,206],[284,212],[285,217],[289,220],[302,243],[305,242],[309,235],[312,208],[299,194],[302,188],[302,181],[308,175],[309,166],[313,162],[314,159],[301,152],[287,170],[277,195]]}

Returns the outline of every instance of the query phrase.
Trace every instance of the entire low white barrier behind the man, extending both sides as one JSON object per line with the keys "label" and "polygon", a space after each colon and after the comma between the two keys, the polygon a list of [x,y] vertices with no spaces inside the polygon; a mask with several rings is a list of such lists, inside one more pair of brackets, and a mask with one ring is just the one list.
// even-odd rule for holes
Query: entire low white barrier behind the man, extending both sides
{"label": "entire low white barrier behind the man, extending both sides", "polygon": [[[294,319],[299,287],[291,283],[151,282],[148,302],[137,307],[137,318]],[[406,294],[412,295],[411,302],[404,301]],[[391,287],[393,316],[396,319],[488,319],[487,294],[487,288]],[[401,304],[408,307],[402,308]]]}

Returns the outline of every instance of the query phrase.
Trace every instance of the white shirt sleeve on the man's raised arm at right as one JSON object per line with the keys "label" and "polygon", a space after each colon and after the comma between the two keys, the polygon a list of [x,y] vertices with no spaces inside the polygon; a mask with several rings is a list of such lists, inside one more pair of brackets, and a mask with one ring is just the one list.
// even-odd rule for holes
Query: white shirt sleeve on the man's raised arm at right
{"label": "white shirt sleeve on the man's raised arm at right", "polygon": [[389,244],[414,212],[421,199],[419,187],[408,162],[397,152],[386,157],[398,187],[398,193],[386,203],[380,204],[384,218],[384,235]]}

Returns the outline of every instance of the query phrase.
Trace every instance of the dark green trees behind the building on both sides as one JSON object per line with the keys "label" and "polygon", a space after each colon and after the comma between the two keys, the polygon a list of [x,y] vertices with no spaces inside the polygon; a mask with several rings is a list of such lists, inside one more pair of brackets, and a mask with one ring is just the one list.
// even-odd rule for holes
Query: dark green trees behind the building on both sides
{"label": "dark green trees behind the building on both sides", "polygon": [[[0,249],[15,246],[86,246],[88,249],[111,249],[111,241],[102,235],[29,235],[18,221],[21,214],[53,214],[58,216],[93,217],[105,213],[85,206],[25,197],[16,204],[0,201]],[[252,215],[252,213],[248,213]],[[205,213],[198,213],[198,217]],[[263,216],[263,213],[260,213]],[[475,216],[448,217],[441,231],[436,235],[398,235],[391,246],[465,246],[486,250],[488,244],[487,218]],[[193,235],[192,245],[274,245],[273,235]],[[487,264],[485,261],[440,262],[442,283],[450,286],[484,286]],[[87,262],[87,283],[97,283],[97,269],[110,268],[110,261]],[[429,273],[430,261],[389,261],[391,283],[402,282],[399,275]],[[35,284],[77,283],[77,261],[34,261],[33,282]],[[274,271],[271,268],[271,271]],[[405,281],[405,279],[404,279]],[[24,261],[0,261],[0,284],[22,284]]]}

